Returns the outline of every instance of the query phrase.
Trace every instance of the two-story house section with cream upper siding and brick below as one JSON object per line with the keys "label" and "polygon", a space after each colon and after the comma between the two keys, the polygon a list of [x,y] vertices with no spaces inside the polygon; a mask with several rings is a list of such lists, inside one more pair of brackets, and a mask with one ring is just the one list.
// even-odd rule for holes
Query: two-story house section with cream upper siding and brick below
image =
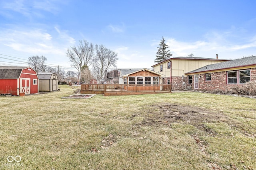
{"label": "two-story house section with cream upper siding and brick below", "polygon": [[228,61],[226,59],[202,57],[173,57],[153,65],[154,71],[165,75],[160,84],[171,84],[172,90],[185,89],[188,78],[185,73],[204,67],[205,65]]}

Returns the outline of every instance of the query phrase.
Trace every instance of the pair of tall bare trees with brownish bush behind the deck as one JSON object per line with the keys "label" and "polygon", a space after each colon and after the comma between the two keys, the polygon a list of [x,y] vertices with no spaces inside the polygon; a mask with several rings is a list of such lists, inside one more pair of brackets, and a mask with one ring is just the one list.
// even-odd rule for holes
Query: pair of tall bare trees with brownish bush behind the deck
{"label": "pair of tall bare trees with brownish bush behind the deck", "polygon": [[[106,48],[104,45],[93,45],[86,40],[79,41],[78,46],[67,49],[66,56],[72,66],[79,73],[82,83],[89,83],[90,79],[103,79],[110,67],[116,67],[117,53]],[[89,69],[92,66],[92,69]],[[100,83],[98,81],[98,83]]]}

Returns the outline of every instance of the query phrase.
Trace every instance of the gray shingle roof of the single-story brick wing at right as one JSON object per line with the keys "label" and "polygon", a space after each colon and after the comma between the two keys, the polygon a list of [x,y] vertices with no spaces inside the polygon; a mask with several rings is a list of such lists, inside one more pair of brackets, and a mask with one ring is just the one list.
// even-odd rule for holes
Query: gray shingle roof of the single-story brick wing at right
{"label": "gray shingle roof of the single-story brick wing at right", "polygon": [[221,63],[206,65],[204,67],[190,71],[188,73],[198,73],[198,72],[204,72],[204,71],[236,68],[236,67],[243,67],[243,66],[250,66],[250,65],[256,65],[256,56],[245,57],[241,59],[234,59],[230,61],[224,61]]}

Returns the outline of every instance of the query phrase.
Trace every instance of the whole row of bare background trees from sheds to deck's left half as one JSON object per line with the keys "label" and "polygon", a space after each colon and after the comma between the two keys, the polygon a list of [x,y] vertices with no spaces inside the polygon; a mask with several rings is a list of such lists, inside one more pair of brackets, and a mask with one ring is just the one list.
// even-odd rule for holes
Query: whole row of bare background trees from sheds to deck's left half
{"label": "whole row of bare background trees from sheds to deck's left half", "polygon": [[[28,65],[38,72],[54,72],[58,75],[59,81],[66,81],[68,78],[72,81],[81,81],[90,83],[92,79],[103,79],[110,67],[116,67],[118,60],[117,53],[106,48],[104,45],[93,45],[86,40],[80,40],[79,45],[71,46],[66,51],[66,56],[71,62],[75,71],[65,71],[60,67],[50,67],[46,65],[45,56],[34,55],[28,57]],[[91,66],[91,69],[89,67]],[[75,77],[78,77],[75,78]],[[100,83],[100,81],[98,81]]]}

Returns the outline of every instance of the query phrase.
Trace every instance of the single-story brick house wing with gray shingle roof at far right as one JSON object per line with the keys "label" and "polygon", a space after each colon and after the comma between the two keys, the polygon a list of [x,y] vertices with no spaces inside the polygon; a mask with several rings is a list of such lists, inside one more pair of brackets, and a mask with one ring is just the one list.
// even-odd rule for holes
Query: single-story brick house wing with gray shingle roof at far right
{"label": "single-story brick house wing with gray shingle roof at far right", "polygon": [[256,56],[206,65],[185,73],[192,89],[232,91],[248,81],[256,81]]}

